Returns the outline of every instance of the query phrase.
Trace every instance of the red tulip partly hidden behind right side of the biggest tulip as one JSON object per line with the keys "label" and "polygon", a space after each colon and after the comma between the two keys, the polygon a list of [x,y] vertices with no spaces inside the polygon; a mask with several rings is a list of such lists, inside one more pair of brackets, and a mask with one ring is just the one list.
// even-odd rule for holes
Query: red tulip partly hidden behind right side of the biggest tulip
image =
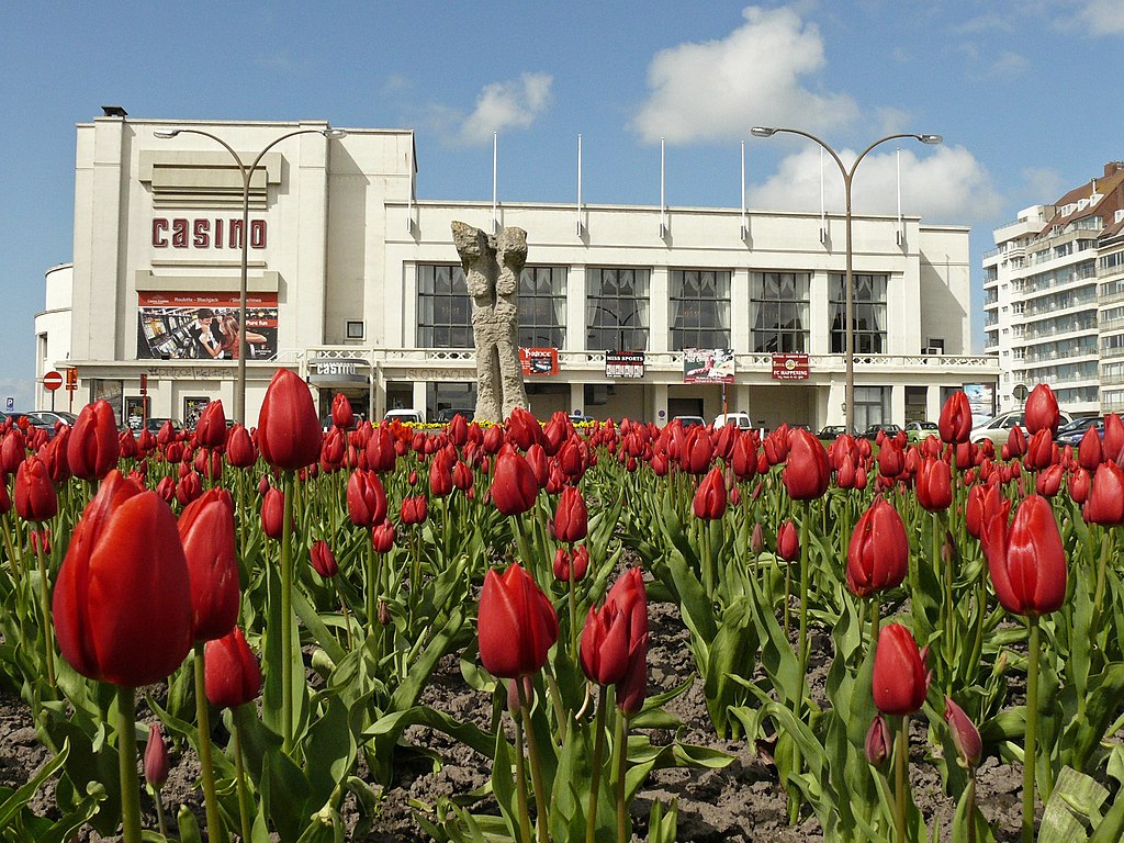
{"label": "red tulip partly hidden behind right side of the biggest tulip", "polygon": [[230,492],[205,492],[183,509],[178,526],[191,580],[192,637],[221,638],[238,622],[241,597]]}

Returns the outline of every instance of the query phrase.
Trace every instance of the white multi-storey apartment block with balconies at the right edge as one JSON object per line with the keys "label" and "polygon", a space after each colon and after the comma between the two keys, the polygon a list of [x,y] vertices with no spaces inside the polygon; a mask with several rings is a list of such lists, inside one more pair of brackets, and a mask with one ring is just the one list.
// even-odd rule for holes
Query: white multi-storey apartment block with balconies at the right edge
{"label": "white multi-storey apartment block with balconies at the right edge", "polygon": [[1124,163],[995,229],[984,256],[985,352],[999,408],[1049,383],[1062,409],[1124,409]]}

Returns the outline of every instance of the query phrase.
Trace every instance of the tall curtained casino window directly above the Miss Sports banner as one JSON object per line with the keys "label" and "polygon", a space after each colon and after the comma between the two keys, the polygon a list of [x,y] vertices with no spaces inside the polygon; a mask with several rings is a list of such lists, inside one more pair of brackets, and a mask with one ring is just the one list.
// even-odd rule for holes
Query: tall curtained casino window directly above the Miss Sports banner
{"label": "tall curtained casino window directly above the Miss Sports banner", "polygon": [[586,348],[646,351],[646,269],[589,269],[586,272]]}

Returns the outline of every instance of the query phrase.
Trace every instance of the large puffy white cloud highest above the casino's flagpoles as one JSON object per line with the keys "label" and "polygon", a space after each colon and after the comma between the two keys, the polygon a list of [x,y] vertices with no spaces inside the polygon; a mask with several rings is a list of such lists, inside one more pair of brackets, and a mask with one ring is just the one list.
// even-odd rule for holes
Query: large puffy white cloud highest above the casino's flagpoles
{"label": "large puffy white cloud highest above the casino's flagpoles", "polygon": [[792,8],[749,7],[725,38],[661,51],[649,66],[651,94],[632,121],[649,142],[738,139],[755,125],[798,124],[809,130],[858,115],[845,93],[816,92],[805,79],[825,64],[815,24]]}

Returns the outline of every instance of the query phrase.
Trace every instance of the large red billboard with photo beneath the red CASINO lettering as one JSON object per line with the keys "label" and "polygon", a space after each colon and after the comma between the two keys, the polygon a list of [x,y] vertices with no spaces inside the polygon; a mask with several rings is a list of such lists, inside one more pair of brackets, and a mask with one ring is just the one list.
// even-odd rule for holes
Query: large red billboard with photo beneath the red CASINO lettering
{"label": "large red billboard with photo beneath the red CASINO lettering", "polygon": [[[237,360],[238,293],[137,293],[137,360]],[[246,297],[250,357],[278,352],[277,293]]]}

